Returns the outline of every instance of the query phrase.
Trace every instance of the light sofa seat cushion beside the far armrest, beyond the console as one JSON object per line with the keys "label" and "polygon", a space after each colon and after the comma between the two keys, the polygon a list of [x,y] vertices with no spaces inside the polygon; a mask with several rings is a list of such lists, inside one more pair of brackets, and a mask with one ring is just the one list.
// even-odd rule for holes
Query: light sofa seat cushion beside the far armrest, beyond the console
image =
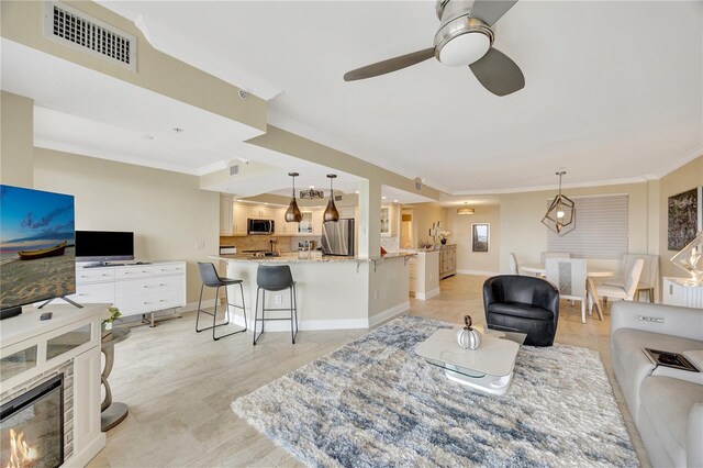
{"label": "light sofa seat cushion beside the far armrest, beyond the console", "polygon": [[703,347],[703,342],[633,328],[618,328],[613,333],[611,336],[613,370],[635,422],[638,422],[639,387],[645,377],[649,376],[656,367],[641,350],[645,347],[683,353],[689,349],[700,349]]}

